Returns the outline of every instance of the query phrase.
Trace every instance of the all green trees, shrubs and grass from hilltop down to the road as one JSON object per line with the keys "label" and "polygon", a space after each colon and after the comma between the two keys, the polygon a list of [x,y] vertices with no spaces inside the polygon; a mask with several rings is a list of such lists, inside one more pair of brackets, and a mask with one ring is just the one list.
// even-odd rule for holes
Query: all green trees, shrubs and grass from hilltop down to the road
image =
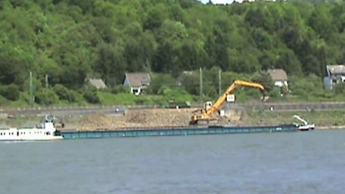
{"label": "all green trees, shrubs and grass from hilltop down to the road", "polygon": [[[323,86],[326,65],[344,60],[341,1],[6,0],[0,9],[1,106],[199,101],[236,78],[265,82],[276,101],[337,101],[345,91]],[[283,69],[289,87],[272,87],[268,69]],[[123,86],[127,72],[149,73],[142,95]],[[235,92],[239,102],[260,95]]]}

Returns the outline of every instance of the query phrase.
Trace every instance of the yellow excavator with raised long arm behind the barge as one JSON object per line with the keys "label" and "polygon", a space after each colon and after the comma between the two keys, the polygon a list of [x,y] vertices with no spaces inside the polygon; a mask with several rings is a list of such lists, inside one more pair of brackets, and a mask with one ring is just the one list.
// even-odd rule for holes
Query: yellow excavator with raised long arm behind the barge
{"label": "yellow excavator with raised long arm behind the barge", "polygon": [[221,95],[219,96],[218,100],[212,105],[211,102],[207,102],[204,104],[204,112],[201,110],[200,115],[193,115],[190,121],[190,125],[197,125],[199,121],[207,121],[207,123],[212,120],[212,114],[218,112],[221,108],[223,103],[226,101],[226,96],[231,94],[233,90],[236,89],[237,86],[248,86],[248,87],[255,87],[260,88],[262,91],[265,91],[265,87],[260,83],[248,82],[243,80],[235,80],[230,87]]}

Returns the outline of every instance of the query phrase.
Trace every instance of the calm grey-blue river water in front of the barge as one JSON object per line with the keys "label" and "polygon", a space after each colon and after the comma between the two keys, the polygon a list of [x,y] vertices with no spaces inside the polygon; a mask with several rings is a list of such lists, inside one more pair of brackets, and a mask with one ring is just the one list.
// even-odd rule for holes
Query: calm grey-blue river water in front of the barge
{"label": "calm grey-blue river water in front of the barge", "polygon": [[0,143],[0,193],[344,193],[345,130]]}

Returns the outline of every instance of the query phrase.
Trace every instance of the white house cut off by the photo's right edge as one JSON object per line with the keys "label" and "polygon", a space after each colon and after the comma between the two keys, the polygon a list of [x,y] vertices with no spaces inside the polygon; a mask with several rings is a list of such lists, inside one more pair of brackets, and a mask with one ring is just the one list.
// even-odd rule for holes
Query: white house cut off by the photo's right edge
{"label": "white house cut off by the photo's right edge", "polygon": [[345,82],[344,65],[326,65],[326,76],[323,78],[325,88],[332,89],[333,85]]}

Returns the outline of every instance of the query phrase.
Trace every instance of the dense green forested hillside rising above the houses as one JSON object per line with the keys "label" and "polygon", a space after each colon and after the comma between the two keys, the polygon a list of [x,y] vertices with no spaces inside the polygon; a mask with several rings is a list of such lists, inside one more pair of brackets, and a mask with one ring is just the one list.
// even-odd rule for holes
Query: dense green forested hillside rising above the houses
{"label": "dense green forested hillside rising above the houses", "polygon": [[[60,99],[61,90],[80,89],[87,77],[121,84],[126,71],[177,77],[199,67],[283,68],[321,79],[326,64],[345,61],[344,27],[341,1],[6,0],[0,2],[2,95],[22,98],[29,71],[36,92],[45,74],[50,86],[63,86],[60,95],[54,90]],[[41,100],[49,96],[44,92]]]}

